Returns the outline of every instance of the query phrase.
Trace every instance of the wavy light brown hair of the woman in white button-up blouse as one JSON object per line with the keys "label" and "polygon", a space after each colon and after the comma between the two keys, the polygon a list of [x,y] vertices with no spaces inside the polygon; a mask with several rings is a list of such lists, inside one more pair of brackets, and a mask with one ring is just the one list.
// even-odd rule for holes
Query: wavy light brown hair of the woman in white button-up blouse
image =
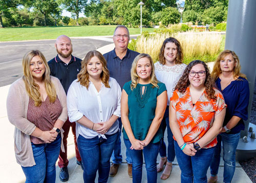
{"label": "wavy light brown hair of the woman in white button-up blouse", "polygon": [[110,73],[108,68],[106,67],[106,60],[103,57],[103,55],[96,50],[88,52],[86,54],[86,57],[84,57],[84,59],[82,60],[81,71],[77,75],[77,82],[80,82],[82,86],[85,86],[88,89],[90,81],[89,81],[89,74],[87,71],[87,64],[93,57],[97,57],[100,60],[100,63],[102,64],[102,72],[100,74],[100,79],[102,83],[105,85],[105,87],[110,88],[110,85],[109,85]]}

